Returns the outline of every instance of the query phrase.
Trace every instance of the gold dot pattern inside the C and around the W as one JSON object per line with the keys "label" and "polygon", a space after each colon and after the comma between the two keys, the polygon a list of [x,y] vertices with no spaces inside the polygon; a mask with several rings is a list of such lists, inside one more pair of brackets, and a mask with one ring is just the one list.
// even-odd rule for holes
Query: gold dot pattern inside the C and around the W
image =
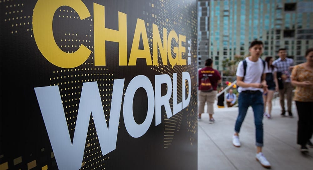
{"label": "gold dot pattern inside the C and around the W", "polygon": [[[81,66],[73,69],[54,70],[54,77],[49,79],[51,82],[50,85],[59,85],[66,121],[71,139],[73,139],[79,108],[78,104],[81,95],[80,92],[83,83],[85,82],[98,82],[106,123],[109,123],[114,74],[111,73],[108,68],[94,67],[92,17],[80,20],[77,12],[70,7],[60,7],[54,17],[57,17],[60,21],[79,21],[83,22],[80,24],[90,26],[89,30],[84,30],[85,32],[81,32],[79,30],[77,32],[74,32],[73,30],[59,30],[59,32],[64,32],[64,36],[61,36],[63,38],[56,40],[56,43],[62,51],[66,53],[73,53],[78,50],[81,44],[83,44],[91,51],[91,54]],[[95,124],[91,115],[81,169],[105,169],[105,161],[110,158],[109,155],[110,154],[106,154],[102,156]]]}

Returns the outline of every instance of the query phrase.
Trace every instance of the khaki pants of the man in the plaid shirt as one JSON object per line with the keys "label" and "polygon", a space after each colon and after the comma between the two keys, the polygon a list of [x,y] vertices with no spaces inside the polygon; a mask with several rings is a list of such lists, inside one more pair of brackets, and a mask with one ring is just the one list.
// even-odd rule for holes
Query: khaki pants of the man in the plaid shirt
{"label": "khaki pants of the man in the plaid shirt", "polygon": [[292,90],[293,87],[290,82],[284,82],[284,89],[279,90],[280,106],[282,111],[285,110],[285,94],[287,97],[287,111],[291,112],[291,102],[292,102]]}

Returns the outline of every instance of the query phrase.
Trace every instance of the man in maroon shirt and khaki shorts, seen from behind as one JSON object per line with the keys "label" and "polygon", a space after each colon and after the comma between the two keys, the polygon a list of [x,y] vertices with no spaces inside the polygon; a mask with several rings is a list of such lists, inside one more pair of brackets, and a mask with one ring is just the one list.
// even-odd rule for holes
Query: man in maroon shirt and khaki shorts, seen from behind
{"label": "man in maroon shirt and khaki shorts, seen from behind", "polygon": [[201,120],[201,114],[204,113],[204,105],[205,102],[207,102],[208,105],[208,114],[209,114],[209,123],[214,123],[213,114],[213,104],[214,100],[216,99],[217,95],[217,85],[221,83],[221,75],[219,74],[218,70],[214,70],[213,67],[213,61],[212,59],[207,59],[205,61],[205,68],[198,71],[198,85],[200,85],[201,79],[205,76],[208,76],[210,79],[210,82],[212,84],[213,90],[211,92],[205,92],[198,90],[198,112],[199,116],[198,119]]}

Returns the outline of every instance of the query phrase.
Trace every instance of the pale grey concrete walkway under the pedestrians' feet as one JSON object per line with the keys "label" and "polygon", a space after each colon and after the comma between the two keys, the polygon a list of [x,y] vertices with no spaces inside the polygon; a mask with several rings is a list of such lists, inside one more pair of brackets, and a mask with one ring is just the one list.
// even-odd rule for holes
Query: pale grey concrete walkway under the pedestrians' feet
{"label": "pale grey concrete walkway under the pedestrians' feet", "polygon": [[[272,119],[263,119],[263,153],[277,170],[312,170],[312,148],[300,153],[296,144],[298,116],[293,102],[293,118],[280,116],[279,101],[274,101]],[[252,108],[241,127],[241,147],[232,145],[232,135],[238,108],[214,108],[214,124],[208,123],[208,114],[198,121],[198,170],[263,170],[255,160],[255,127]],[[313,141],[313,140],[312,140]]]}

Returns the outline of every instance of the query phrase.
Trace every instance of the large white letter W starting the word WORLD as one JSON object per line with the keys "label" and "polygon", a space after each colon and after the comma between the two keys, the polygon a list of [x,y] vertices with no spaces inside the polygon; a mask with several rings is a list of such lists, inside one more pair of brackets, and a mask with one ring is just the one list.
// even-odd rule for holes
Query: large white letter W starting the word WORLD
{"label": "large white letter W starting the word WORLD", "polygon": [[83,83],[73,144],[69,136],[59,86],[34,88],[60,170],[77,170],[81,168],[90,113],[94,118],[102,154],[105,155],[115,149],[123,86],[124,79],[114,80],[108,129],[97,82]]}

